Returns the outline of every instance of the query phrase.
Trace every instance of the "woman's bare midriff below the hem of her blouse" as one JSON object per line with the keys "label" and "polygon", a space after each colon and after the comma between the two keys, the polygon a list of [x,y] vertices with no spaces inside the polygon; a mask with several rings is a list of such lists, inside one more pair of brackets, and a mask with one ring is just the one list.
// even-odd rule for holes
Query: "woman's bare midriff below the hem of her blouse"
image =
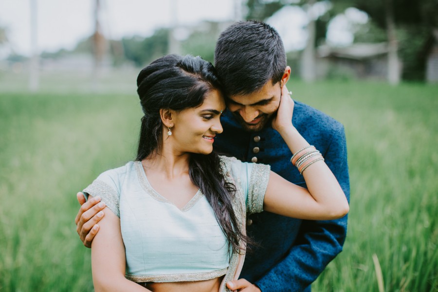
{"label": "woman's bare midriff below the hem of her blouse", "polygon": [[152,292],[218,292],[223,276],[205,281],[142,283]]}

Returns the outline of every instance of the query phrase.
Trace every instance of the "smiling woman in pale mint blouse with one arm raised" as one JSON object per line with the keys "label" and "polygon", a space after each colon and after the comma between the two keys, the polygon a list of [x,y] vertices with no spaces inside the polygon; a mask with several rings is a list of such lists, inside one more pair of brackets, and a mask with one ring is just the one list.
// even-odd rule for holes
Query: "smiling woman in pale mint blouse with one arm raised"
{"label": "smiling woman in pale mint blouse with one arm raised", "polygon": [[136,161],[84,190],[112,211],[91,246],[96,291],[224,291],[243,264],[247,213],[336,219],[348,212],[321,154],[293,128],[285,86],[272,123],[309,191],[269,165],[212,152],[225,102],[210,63],[168,55],[143,69],[137,85],[145,115]]}

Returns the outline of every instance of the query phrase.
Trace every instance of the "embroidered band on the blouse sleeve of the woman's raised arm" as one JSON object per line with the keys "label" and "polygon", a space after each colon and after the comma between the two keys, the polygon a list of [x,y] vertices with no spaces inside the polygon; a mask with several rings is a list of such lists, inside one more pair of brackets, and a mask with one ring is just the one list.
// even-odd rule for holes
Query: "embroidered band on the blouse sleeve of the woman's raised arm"
{"label": "embroidered band on the blouse sleeve of the woman's raised arm", "polygon": [[266,164],[253,164],[251,178],[248,186],[248,214],[260,213],[263,211],[263,199],[269,181],[271,167]]}

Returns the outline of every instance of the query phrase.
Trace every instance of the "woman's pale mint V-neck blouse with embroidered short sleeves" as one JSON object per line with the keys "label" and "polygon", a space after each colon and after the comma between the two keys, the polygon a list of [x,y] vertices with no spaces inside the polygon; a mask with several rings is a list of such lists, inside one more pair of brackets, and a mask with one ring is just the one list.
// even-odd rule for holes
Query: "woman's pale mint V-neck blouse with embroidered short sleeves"
{"label": "woman's pale mint V-neck blouse with embroidered short sleeves", "polygon": [[[236,185],[239,201],[245,202],[243,213],[261,212],[269,165],[228,157],[221,157],[221,165]],[[140,161],[102,173],[84,193],[100,196],[120,218],[126,277],[134,282],[213,279],[226,274],[233,262],[227,239],[201,191],[179,209],[152,188]]]}

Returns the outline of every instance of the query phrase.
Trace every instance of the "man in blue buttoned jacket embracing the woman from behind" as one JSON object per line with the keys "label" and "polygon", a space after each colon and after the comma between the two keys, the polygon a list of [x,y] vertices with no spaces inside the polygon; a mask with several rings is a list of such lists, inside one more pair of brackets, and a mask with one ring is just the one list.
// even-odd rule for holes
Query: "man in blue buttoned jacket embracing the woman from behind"
{"label": "man in blue buttoned jacket embracing the woman from behind", "polygon": [[[283,178],[306,187],[290,162],[292,153],[271,125],[291,73],[278,33],[256,21],[231,25],[217,42],[215,66],[229,109],[222,116],[224,131],[217,136],[215,149],[244,162],[270,164]],[[295,102],[292,124],[323,154],[348,199],[342,124],[300,102]],[[103,216],[94,215],[104,206],[92,207],[95,200],[84,203],[80,193],[78,200],[83,205],[76,217],[77,232],[89,247],[98,230],[96,223]],[[241,279],[229,283],[228,288],[245,292],[310,291],[310,284],[341,252],[346,232],[347,217],[310,221],[268,212],[251,215],[247,233],[258,245],[247,254]]]}

